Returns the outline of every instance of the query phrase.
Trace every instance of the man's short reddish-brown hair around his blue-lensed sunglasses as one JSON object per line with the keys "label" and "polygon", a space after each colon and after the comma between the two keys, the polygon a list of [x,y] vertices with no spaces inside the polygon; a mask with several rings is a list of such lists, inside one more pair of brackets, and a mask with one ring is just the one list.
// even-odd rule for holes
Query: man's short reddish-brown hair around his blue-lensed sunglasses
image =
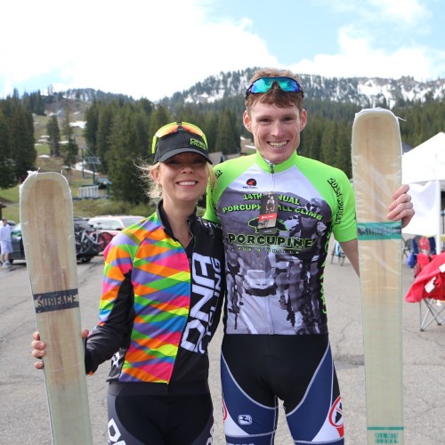
{"label": "man's short reddish-brown hair around his blue-lensed sunglasses", "polygon": [[[252,76],[252,78],[249,80],[249,85],[261,77],[291,77],[298,82],[295,74],[288,69],[266,68],[256,70],[254,76]],[[247,96],[247,112],[249,112],[250,107],[255,105],[256,102],[271,103],[280,108],[287,108],[296,105],[296,107],[301,110],[303,109],[303,94],[300,92],[284,92],[281,90],[281,88],[279,88],[279,85],[273,85],[273,87],[267,93],[249,94]]]}

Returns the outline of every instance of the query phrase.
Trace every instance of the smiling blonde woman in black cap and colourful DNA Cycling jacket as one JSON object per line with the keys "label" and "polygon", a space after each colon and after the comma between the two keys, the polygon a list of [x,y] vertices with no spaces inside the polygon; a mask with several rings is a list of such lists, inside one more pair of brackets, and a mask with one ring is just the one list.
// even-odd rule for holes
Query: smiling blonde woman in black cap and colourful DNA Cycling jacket
{"label": "smiling blonde woman in black cap and colourful DNA Cycling jacket", "polygon": [[[93,374],[112,359],[109,443],[204,445],[213,433],[207,344],[223,301],[223,244],[196,204],[214,174],[195,125],[163,126],[152,152],[155,164],[142,175],[161,200],[104,253],[100,321],[86,338],[85,368]],[[34,338],[40,359],[44,343]]]}

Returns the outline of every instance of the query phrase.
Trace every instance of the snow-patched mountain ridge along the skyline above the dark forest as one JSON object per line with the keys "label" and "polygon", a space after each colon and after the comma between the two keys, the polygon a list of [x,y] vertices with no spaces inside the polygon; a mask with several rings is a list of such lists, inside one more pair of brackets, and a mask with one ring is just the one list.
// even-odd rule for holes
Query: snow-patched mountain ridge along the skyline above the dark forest
{"label": "snow-patched mountain ridge along the skyline above the dark forest", "polygon": [[[248,80],[253,76],[254,69],[220,72],[206,77],[182,92],[173,93],[155,103],[164,106],[178,106],[187,103],[210,104],[224,98],[244,95]],[[414,77],[399,79],[385,77],[322,77],[319,75],[299,74],[297,78],[305,97],[312,100],[336,101],[353,103],[363,108],[384,105],[392,109],[395,105],[406,102],[441,101],[445,99],[445,79],[418,81]],[[103,101],[120,99],[134,101],[125,94],[104,93],[92,88],[69,89],[57,93],[67,99],[81,101]],[[150,98],[147,98],[150,100]]]}

